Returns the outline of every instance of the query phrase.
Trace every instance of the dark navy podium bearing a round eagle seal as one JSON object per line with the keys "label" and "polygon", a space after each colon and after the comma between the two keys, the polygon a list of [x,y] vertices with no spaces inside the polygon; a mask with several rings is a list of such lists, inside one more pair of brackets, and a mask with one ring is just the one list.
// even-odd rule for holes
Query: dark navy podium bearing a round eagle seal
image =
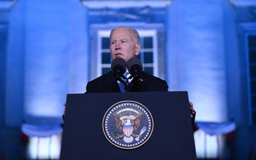
{"label": "dark navy podium bearing a round eagle seal", "polygon": [[[137,148],[123,149],[118,146],[119,143],[113,145],[104,131],[106,122],[103,118],[111,112],[109,108],[122,101],[137,102],[146,107],[154,121],[154,129],[148,133],[150,138],[145,138],[147,142]],[[118,108],[113,111],[115,109]],[[112,116],[109,118],[113,119]],[[149,132],[148,128],[147,130]],[[123,137],[126,135],[124,133]],[[116,141],[121,140],[119,138]],[[68,94],[60,160],[103,159],[196,160],[188,93]]]}

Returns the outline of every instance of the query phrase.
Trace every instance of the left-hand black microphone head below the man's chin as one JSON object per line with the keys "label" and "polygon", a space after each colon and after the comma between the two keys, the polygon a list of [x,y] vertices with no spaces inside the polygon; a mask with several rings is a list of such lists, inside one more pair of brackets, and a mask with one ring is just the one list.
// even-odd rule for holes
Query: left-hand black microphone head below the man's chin
{"label": "left-hand black microphone head below the man's chin", "polygon": [[125,62],[125,59],[122,59],[120,57],[113,59],[111,63],[111,71],[114,73],[115,77],[122,76],[127,68],[127,64]]}

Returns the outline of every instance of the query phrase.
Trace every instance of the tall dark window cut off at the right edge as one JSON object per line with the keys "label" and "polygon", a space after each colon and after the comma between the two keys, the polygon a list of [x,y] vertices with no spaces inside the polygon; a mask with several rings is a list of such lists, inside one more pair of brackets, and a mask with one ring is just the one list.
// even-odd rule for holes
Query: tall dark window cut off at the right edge
{"label": "tall dark window cut off at the right edge", "polygon": [[256,124],[256,35],[248,36],[248,86],[251,123]]}

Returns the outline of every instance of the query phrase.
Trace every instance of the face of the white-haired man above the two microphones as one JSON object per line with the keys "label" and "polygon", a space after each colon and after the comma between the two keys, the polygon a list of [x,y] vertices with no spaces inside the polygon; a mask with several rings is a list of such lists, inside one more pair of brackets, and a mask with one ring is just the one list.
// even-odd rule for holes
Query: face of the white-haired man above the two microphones
{"label": "face of the white-haired man above the two microphones", "polygon": [[110,52],[112,59],[117,57],[129,59],[140,53],[141,46],[135,44],[135,35],[129,28],[118,28],[112,32],[110,37]]}

